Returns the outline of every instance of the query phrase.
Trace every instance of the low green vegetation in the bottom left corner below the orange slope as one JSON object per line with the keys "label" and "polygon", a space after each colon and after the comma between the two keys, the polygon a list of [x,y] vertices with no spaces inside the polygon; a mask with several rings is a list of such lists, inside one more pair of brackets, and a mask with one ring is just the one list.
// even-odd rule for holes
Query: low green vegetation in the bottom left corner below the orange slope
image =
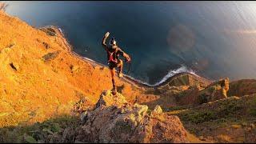
{"label": "low green vegetation in the bottom left corner below the orange slope", "polygon": [[[54,142],[56,136],[62,135],[66,128],[75,129],[79,125],[79,118],[62,115],[50,118],[45,122],[33,125],[10,126],[0,129],[0,143],[6,142]],[[56,140],[56,139],[55,139]]]}

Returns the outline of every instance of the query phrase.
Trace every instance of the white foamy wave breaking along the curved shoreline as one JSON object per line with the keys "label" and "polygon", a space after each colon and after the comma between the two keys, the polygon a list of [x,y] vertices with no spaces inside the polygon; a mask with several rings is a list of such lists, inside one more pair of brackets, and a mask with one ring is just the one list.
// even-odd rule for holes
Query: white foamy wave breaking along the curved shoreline
{"label": "white foamy wave breaking along the curved shoreline", "polygon": [[[166,76],[164,78],[162,78],[162,80],[160,82],[156,82],[155,84],[151,85],[147,82],[142,82],[141,80],[138,80],[136,78],[133,78],[133,77],[130,77],[128,75],[126,75],[127,77],[129,77],[130,79],[133,79],[134,81],[137,81],[137,82],[140,82],[146,86],[159,86],[161,85],[163,82],[166,82],[167,79],[173,77],[175,74],[179,74],[179,73],[183,73],[183,72],[186,72],[186,73],[190,73],[190,74],[194,74],[194,75],[197,75],[194,73],[193,70],[187,68],[186,66],[181,66],[180,68],[178,68],[177,70],[170,70],[168,72],[168,74],[166,74]],[[198,76],[198,75],[197,75]],[[199,77],[199,76],[198,76]]]}

